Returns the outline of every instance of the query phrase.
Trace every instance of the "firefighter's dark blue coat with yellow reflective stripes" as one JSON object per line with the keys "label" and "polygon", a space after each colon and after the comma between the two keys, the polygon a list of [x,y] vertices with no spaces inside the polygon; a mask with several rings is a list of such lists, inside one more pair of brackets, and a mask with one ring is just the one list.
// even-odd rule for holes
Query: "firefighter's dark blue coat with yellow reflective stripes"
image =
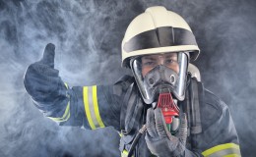
{"label": "firefighter's dark blue coat with yellow reflective stripes", "polygon": [[[227,106],[202,83],[188,79],[186,98],[178,102],[188,119],[185,156],[240,156],[237,133]],[[55,86],[48,86],[55,87]],[[146,124],[149,105],[143,102],[134,78],[125,76],[113,85],[69,87],[60,81],[58,94],[32,95],[35,106],[60,126],[89,130],[108,126],[120,132],[122,156],[127,155],[136,133]],[[145,134],[134,156],[149,157]]]}

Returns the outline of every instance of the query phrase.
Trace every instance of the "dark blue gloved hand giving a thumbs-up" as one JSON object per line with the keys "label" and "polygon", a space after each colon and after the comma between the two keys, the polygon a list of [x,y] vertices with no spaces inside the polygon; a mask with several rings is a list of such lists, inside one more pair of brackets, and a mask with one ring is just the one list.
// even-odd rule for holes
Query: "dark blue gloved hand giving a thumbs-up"
{"label": "dark blue gloved hand giving a thumbs-up", "polygon": [[43,57],[29,66],[24,77],[25,88],[37,102],[52,102],[65,95],[65,85],[54,69],[55,45],[48,43]]}

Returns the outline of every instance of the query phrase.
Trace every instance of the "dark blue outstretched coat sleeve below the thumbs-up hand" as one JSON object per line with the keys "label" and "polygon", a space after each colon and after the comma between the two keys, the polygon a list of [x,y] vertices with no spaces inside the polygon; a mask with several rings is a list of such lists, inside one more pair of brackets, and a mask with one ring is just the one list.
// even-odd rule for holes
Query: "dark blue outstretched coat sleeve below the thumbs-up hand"
{"label": "dark blue outstretched coat sleeve below the thumbs-up hand", "polygon": [[[59,95],[34,101],[45,117],[60,126],[77,126],[88,130],[104,127],[120,128],[120,108],[130,77],[111,85],[73,86],[62,84]],[[64,86],[65,85],[65,86]]]}

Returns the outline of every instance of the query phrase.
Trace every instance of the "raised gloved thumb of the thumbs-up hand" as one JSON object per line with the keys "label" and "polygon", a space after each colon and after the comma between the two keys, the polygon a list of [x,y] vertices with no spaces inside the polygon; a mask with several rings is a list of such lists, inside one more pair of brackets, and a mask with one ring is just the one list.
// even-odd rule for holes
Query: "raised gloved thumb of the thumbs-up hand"
{"label": "raised gloved thumb of the thumbs-up hand", "polygon": [[39,62],[41,64],[54,68],[54,57],[55,57],[55,45],[52,43],[48,43],[45,46],[43,56]]}

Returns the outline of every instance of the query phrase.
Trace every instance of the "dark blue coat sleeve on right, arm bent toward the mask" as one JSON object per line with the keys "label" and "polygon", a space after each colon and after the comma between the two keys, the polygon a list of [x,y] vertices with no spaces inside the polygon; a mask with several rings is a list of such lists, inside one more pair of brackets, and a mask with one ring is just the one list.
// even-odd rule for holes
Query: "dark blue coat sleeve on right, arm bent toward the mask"
{"label": "dark blue coat sleeve on right, arm bent toward the mask", "polygon": [[201,156],[241,156],[237,132],[228,107],[212,92],[206,90],[201,108],[203,131],[193,135],[194,151]]}

